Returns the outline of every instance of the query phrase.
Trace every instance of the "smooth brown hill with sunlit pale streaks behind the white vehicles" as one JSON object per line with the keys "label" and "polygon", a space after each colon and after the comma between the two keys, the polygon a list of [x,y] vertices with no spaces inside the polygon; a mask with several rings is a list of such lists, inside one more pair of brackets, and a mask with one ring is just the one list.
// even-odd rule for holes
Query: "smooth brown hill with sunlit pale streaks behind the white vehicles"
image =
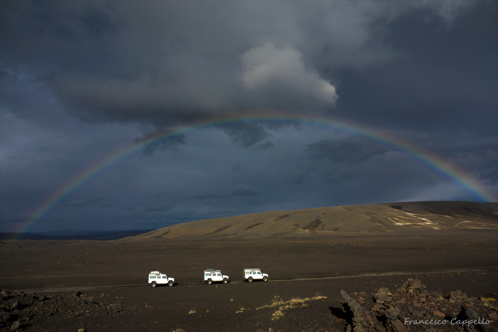
{"label": "smooth brown hill with sunlit pale streaks behind the white vehicles", "polygon": [[496,232],[498,204],[401,202],[263,212],[191,221],[123,240],[262,239],[385,234]]}

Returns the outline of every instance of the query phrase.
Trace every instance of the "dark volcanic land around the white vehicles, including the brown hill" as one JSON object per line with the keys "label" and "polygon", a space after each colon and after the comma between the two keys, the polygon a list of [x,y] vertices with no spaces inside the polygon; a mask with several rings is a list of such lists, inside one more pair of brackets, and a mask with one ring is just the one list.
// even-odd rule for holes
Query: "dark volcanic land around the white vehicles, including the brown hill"
{"label": "dark volcanic land around the white vehicles, including the brown hill", "polygon": [[[409,277],[443,296],[456,289],[475,296],[467,305],[491,317],[496,303],[479,299],[497,298],[497,216],[497,204],[411,202],[193,221],[111,241],[2,240],[0,329],[19,322],[25,331],[344,331],[351,322],[337,311],[341,290],[365,291],[364,301],[373,301],[375,289],[394,292]],[[268,273],[270,282],[243,282],[248,267]],[[204,284],[206,268],[221,269],[232,282]],[[178,284],[148,287],[152,270]],[[287,308],[278,320],[273,307],[256,310],[316,293],[327,298]],[[460,310],[448,299],[430,301],[427,315]],[[376,323],[372,329],[386,331],[385,317]]]}

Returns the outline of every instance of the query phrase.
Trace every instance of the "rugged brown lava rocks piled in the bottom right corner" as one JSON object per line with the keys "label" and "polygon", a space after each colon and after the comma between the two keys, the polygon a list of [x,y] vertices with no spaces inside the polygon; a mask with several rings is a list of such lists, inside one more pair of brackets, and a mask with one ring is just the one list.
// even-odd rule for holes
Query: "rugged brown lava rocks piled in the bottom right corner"
{"label": "rugged brown lava rocks piled in the bottom right corner", "polygon": [[392,294],[348,294],[341,291],[346,332],[498,331],[496,299],[467,297],[460,290],[446,297],[432,292],[420,280],[407,279]]}

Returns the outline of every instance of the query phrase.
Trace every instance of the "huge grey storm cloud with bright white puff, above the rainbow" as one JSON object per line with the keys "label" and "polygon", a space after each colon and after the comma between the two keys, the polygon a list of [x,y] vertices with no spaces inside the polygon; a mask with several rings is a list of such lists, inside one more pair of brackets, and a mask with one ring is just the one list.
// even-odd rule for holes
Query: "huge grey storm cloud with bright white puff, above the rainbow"
{"label": "huge grey storm cloud with bright white puff, above the rainbow", "polygon": [[413,10],[447,25],[470,6],[3,1],[2,60],[45,77],[87,120],[167,126],[233,110],[316,112],[338,99],[327,70],[397,56],[379,26]]}

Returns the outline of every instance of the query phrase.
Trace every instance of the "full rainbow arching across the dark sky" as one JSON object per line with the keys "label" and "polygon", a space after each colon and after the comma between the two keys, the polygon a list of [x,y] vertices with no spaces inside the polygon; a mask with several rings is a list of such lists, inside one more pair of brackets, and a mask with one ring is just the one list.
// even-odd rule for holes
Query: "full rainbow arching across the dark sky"
{"label": "full rainbow arching across the dark sky", "polygon": [[19,233],[27,232],[37,221],[39,221],[43,216],[45,216],[50,210],[52,210],[58,203],[63,201],[69,194],[74,192],[77,188],[85,184],[96,174],[104,171],[105,169],[112,167],[113,165],[119,163],[127,156],[144,149],[145,147],[156,143],[158,141],[169,139],[178,135],[186,134],[199,129],[204,129],[208,127],[220,127],[225,125],[232,125],[237,123],[297,123],[297,124],[309,124],[314,126],[325,127],[329,129],[338,129],[351,134],[362,135],[378,141],[380,143],[390,145],[403,152],[408,153],[418,161],[422,162],[426,166],[435,170],[436,172],[444,175],[453,182],[457,183],[459,186],[465,190],[472,193],[476,198],[483,202],[496,202],[498,200],[497,195],[492,193],[488,188],[483,186],[481,183],[476,181],[474,178],[465,174],[459,170],[454,165],[450,165],[443,159],[430,154],[427,151],[423,151],[421,148],[402,141],[399,138],[389,135],[384,131],[374,131],[367,128],[360,127],[358,125],[348,123],[345,121],[325,119],[312,116],[292,116],[292,115],[281,115],[281,114],[257,114],[253,116],[223,116],[216,119],[210,119],[208,121],[202,121],[198,123],[189,124],[183,127],[176,128],[174,130],[168,129],[163,131],[155,132],[141,140],[135,141],[130,145],[126,145],[121,149],[118,149],[114,153],[110,154],[106,158],[92,164],[90,167],[80,172],[74,178],[72,178],[65,185],[60,187],[53,195],[46,199],[38,208],[31,213],[31,215],[24,221],[21,226]]}

